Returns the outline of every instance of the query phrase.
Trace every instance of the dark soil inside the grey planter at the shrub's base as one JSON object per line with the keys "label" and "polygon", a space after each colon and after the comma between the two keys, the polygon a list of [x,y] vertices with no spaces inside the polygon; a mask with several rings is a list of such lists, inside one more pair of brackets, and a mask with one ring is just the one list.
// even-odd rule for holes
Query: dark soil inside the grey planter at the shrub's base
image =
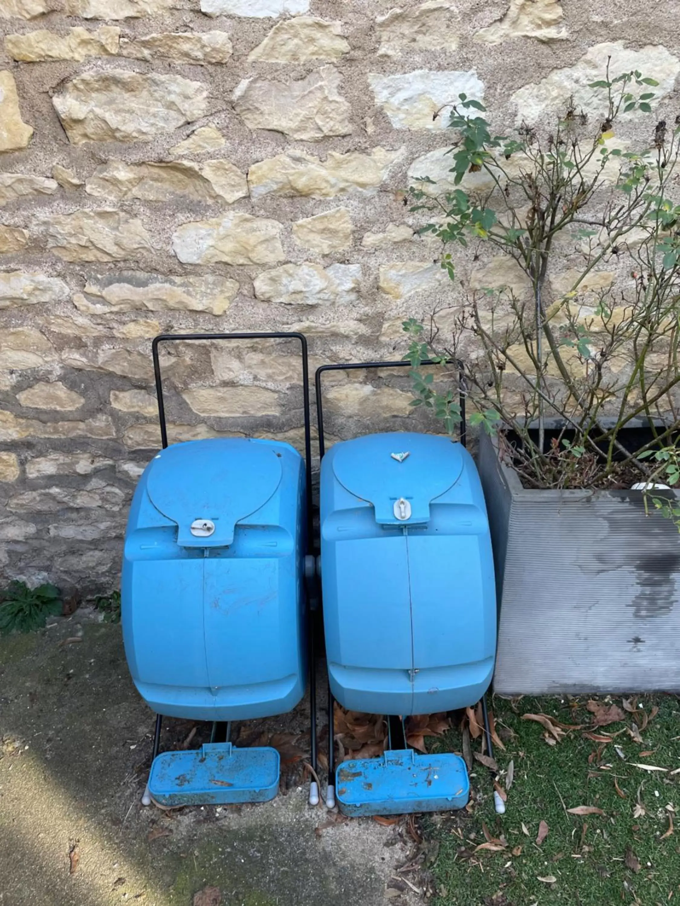
{"label": "dark soil inside the grey planter at the shrub's base", "polygon": [[[617,462],[614,468],[607,470],[605,443],[599,445],[602,456],[589,449],[581,456],[575,456],[563,443],[573,443],[575,436],[573,430],[545,429],[546,452],[540,464],[542,480],[539,480],[536,468],[529,464],[528,457],[522,453],[523,441],[516,431],[508,431],[500,437],[500,457],[515,469],[522,486],[529,488],[623,490],[644,480],[645,473],[635,463],[624,461],[625,456],[620,451],[615,452]],[[529,437],[538,446],[539,429],[529,429]],[[653,435],[649,428],[626,428],[619,431],[617,439],[629,453],[634,453],[646,447]],[[664,445],[675,443],[678,439],[680,432],[666,438]]]}

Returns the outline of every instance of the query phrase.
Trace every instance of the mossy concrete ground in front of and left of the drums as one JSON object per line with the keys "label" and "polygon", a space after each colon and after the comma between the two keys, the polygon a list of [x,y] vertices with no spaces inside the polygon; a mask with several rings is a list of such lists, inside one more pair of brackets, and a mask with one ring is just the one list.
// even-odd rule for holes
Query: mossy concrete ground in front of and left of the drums
{"label": "mossy concrete ground in front of and left of the drums", "polygon": [[153,718],[120,626],[88,611],[49,622],[0,639],[2,906],[190,906],[209,886],[223,906],[415,902],[401,879],[416,877],[394,880],[413,857],[405,825],[335,821],[295,776],[266,805],[143,807]]}

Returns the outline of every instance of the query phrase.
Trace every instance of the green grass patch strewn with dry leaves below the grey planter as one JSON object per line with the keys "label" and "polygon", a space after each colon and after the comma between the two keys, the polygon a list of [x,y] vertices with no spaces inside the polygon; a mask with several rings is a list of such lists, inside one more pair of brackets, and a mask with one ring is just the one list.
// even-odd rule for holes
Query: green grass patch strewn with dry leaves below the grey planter
{"label": "green grass patch strewn with dry leaves below the grey planter", "polygon": [[[635,714],[622,699],[604,704],[616,705],[612,713],[623,719],[595,727],[585,699],[494,700],[506,747],[494,752],[500,786],[514,766],[507,812],[495,814],[492,778],[475,764],[470,811],[429,823],[440,844],[437,906],[680,902],[680,772],[671,773],[680,768],[680,702],[671,695],[627,699]],[[522,719],[528,713],[583,727],[565,729],[549,745],[547,729]],[[461,750],[455,733],[442,744]],[[604,814],[568,813],[578,806]],[[541,822],[548,833],[537,843]]]}

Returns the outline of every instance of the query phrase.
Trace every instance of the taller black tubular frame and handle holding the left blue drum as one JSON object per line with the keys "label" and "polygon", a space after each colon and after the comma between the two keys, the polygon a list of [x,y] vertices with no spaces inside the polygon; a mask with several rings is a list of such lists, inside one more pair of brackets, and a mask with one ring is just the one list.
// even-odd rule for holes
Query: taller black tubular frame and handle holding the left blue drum
{"label": "taller black tubular frame and handle holding the left blue drum", "polygon": [[[153,358],[153,376],[156,382],[156,397],[158,399],[158,417],[160,423],[160,443],[162,448],[168,447],[168,427],[165,419],[165,400],[163,398],[163,384],[160,374],[160,353],[159,347],[161,342],[186,342],[186,341],[210,341],[210,340],[297,340],[300,343],[300,353],[302,359],[302,396],[303,396],[303,415],[305,419],[305,485],[306,485],[306,551],[313,550],[314,539],[314,515],[312,510],[312,429],[309,407],[309,356],[307,352],[307,340],[304,333],[271,331],[266,333],[248,332],[248,333],[160,333],[153,338],[151,342],[151,356]],[[307,595],[307,605],[309,604],[309,595]],[[307,606],[308,618],[308,659],[309,659],[309,724],[310,724],[310,747],[311,762],[316,772],[316,656],[314,644],[315,617],[314,612]],[[156,716],[156,728],[153,741],[153,758],[159,753],[160,748],[160,727],[162,718],[160,714]],[[228,728],[228,724],[224,725]],[[213,727],[213,736],[224,735],[224,729]],[[228,734],[228,729],[227,729]],[[227,736],[228,738],[228,736]]]}

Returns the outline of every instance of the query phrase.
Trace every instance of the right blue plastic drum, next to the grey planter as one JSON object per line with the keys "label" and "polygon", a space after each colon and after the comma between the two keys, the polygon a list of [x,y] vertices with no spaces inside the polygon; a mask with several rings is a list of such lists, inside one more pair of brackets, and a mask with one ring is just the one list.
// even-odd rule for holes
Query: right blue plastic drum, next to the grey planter
{"label": "right blue plastic drum, next to the grey planter", "polygon": [[[405,521],[393,513],[400,497],[412,509]],[[415,433],[335,444],[321,464],[320,516],[326,657],[340,704],[407,715],[478,701],[493,674],[496,594],[470,454]]]}

